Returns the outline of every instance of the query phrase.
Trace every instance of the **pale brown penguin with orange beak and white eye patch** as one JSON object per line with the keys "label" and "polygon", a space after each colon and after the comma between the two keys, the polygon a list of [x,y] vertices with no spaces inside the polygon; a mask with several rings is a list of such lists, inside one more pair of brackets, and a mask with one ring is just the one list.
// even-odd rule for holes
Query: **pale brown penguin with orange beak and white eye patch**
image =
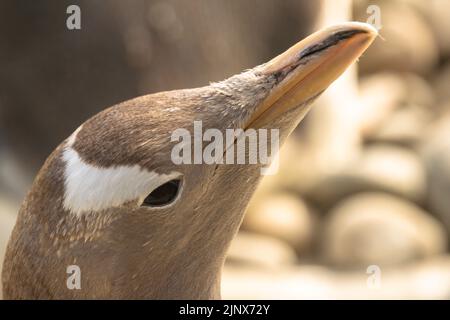
{"label": "pale brown penguin with orange beak and white eye patch", "polygon": [[[49,156],[19,212],[2,275],[6,299],[220,298],[230,241],[261,164],[174,164],[176,128],[279,129],[375,39],[364,23],[323,29],[219,83],[108,108]],[[343,102],[345,103],[345,102]],[[76,266],[80,286],[68,286]]]}

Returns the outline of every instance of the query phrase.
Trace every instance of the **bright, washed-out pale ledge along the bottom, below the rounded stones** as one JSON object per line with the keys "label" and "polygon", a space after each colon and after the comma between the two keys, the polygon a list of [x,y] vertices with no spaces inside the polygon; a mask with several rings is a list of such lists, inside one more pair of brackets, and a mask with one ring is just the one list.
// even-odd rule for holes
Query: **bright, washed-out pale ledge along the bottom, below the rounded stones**
{"label": "bright, washed-out pale ledge along the bottom, below the rounded stones", "polygon": [[379,286],[367,268],[336,271],[314,265],[280,270],[226,265],[224,299],[449,299],[450,256],[381,268]]}

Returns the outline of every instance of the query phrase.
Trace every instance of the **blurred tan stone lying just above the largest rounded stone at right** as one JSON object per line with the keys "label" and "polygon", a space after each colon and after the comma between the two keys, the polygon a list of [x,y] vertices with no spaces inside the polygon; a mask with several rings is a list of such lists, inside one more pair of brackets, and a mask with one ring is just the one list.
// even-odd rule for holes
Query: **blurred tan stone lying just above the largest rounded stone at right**
{"label": "blurred tan stone lying just above the largest rounded stone at right", "polygon": [[363,191],[384,191],[422,203],[426,172],[415,153],[399,147],[367,147],[360,159],[340,173],[327,175],[308,194],[316,205],[330,208],[340,199]]}

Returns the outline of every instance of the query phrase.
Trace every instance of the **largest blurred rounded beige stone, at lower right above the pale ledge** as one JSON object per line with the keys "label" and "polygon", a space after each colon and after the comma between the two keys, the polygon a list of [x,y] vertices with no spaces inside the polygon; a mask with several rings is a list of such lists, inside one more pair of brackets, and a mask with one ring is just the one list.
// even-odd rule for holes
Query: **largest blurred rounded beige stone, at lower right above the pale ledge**
{"label": "largest blurred rounded beige stone, at lower right above the pale ledge", "polygon": [[392,266],[446,250],[440,222],[414,204],[382,193],[363,193],[336,206],[321,244],[326,261],[340,267]]}

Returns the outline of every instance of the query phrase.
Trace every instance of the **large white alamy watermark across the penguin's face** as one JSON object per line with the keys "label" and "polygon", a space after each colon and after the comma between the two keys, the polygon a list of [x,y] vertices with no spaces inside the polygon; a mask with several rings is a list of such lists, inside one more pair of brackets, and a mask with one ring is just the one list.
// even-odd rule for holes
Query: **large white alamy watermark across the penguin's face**
{"label": "large white alamy watermark across the penguin's face", "polygon": [[226,129],[224,137],[219,129],[203,132],[202,121],[193,126],[193,136],[185,128],[172,132],[171,141],[178,142],[170,155],[174,164],[261,164],[262,175],[277,173],[278,129]]}

